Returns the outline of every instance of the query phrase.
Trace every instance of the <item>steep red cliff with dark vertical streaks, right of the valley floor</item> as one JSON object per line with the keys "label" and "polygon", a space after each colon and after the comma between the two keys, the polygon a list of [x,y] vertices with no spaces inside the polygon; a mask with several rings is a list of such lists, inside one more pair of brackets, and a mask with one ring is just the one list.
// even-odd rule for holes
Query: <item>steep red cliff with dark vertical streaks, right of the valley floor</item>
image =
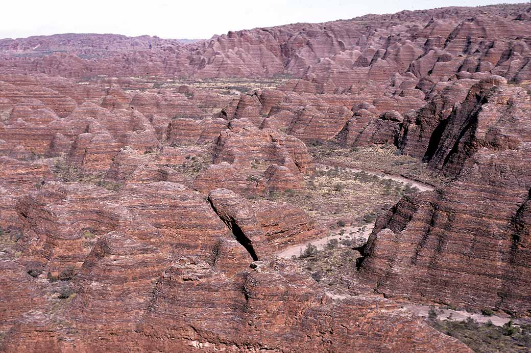
{"label": "steep red cliff with dark vertical streaks, right of the valley floor", "polygon": [[473,86],[433,130],[424,156],[452,181],[377,220],[361,273],[380,292],[529,315],[531,102],[500,81]]}

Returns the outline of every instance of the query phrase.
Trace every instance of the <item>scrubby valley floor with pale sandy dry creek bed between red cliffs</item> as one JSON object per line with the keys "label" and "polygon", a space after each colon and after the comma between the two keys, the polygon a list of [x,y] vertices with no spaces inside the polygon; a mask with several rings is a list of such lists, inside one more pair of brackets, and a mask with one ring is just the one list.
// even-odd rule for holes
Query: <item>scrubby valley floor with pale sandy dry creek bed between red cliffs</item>
{"label": "scrubby valley floor with pale sandy dry creek bed between red cliffs", "polygon": [[[341,180],[347,188],[353,188],[351,193],[337,196],[345,199],[346,195],[354,195],[353,199],[365,199],[356,195],[352,180],[363,175],[373,190],[373,196],[378,195],[376,205],[393,204],[397,195],[382,190],[392,186],[404,192],[432,191],[443,182],[442,179],[428,173],[422,163],[408,156],[396,154],[393,147],[367,147],[355,151],[330,146],[313,147],[312,150],[318,173]],[[348,180],[351,180],[350,182]],[[421,181],[422,180],[422,181]],[[404,189],[400,189],[400,186]],[[369,187],[364,185],[367,189]],[[326,201],[325,201],[326,202]],[[323,204],[325,203],[323,202]],[[347,210],[347,203],[341,211]],[[302,205],[303,206],[303,205]],[[383,211],[383,208],[382,208]],[[309,271],[311,276],[331,289],[329,295],[335,299],[345,299],[350,295],[367,293],[372,289],[364,287],[356,281],[356,269],[353,264],[361,256],[357,250],[366,243],[374,228],[374,217],[364,218],[363,214],[353,214],[361,219],[353,226],[351,224],[333,227],[325,236],[313,241],[290,246],[276,256],[294,259]],[[370,221],[370,222],[367,222]],[[330,223],[329,223],[330,224]],[[354,223],[352,223],[354,224]],[[357,293],[357,294],[356,294]],[[531,347],[531,322],[513,319],[506,313],[492,311],[474,312],[464,308],[441,305],[425,305],[408,301],[400,301],[404,310],[424,317],[426,322],[435,329],[456,337],[477,352],[526,352]]]}

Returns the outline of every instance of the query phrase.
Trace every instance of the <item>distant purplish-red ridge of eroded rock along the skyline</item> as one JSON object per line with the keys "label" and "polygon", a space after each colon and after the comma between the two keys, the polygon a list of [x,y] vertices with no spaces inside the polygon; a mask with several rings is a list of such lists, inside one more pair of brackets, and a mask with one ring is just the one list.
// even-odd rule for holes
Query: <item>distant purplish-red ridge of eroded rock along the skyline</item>
{"label": "distant purplish-red ridge of eroded rock along the skyline", "polygon": [[[367,79],[382,82],[405,72],[435,80],[459,71],[491,72],[516,82],[528,80],[528,33],[529,6],[519,4],[481,10],[402,11],[231,31],[191,45],[148,36],[56,35],[3,40],[0,49],[6,54],[4,66],[66,77],[289,74],[305,78],[309,92],[334,93]],[[102,50],[106,47],[108,53]],[[42,56],[46,49],[56,52],[20,57],[21,53]],[[62,52],[65,49],[69,54]],[[18,56],[11,56],[13,53]]]}

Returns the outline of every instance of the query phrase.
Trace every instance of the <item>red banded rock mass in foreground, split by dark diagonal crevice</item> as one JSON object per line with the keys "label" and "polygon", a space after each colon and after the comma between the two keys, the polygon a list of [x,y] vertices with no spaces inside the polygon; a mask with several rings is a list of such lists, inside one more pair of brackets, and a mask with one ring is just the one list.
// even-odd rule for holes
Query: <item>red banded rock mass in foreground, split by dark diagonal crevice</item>
{"label": "red banded rock mass in foreground, split by dark diagonal crevice", "polygon": [[172,182],[119,192],[52,182],[22,198],[18,214],[20,254],[3,271],[3,301],[16,307],[3,320],[4,351],[464,348],[396,303],[339,304],[273,260],[282,243],[268,246],[269,228],[230,190],[207,201]]}

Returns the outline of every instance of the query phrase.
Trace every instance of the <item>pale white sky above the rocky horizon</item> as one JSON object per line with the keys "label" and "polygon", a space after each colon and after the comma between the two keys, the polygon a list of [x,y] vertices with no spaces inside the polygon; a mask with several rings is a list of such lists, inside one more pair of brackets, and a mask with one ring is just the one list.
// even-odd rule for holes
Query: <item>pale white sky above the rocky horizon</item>
{"label": "pale white sky above the rocky horizon", "polygon": [[[523,1],[499,0],[519,3]],[[476,6],[489,0],[3,0],[0,38],[54,33],[149,34],[161,38],[210,38],[229,30],[295,22],[351,19],[443,6]]]}

